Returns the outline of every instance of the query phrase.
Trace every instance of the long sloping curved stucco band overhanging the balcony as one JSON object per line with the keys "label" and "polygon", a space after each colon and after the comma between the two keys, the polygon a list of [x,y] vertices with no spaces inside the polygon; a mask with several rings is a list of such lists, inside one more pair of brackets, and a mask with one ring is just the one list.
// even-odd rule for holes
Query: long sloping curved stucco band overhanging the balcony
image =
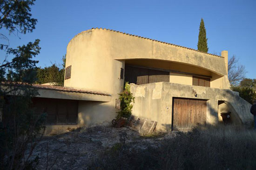
{"label": "long sloping curved stucco band overhanging the balcony", "polygon": [[99,51],[105,50],[104,54],[112,59],[159,59],[195,65],[227,75],[223,57],[195,49],[102,28],[92,28],[77,34],[68,46],[81,37],[90,39]]}

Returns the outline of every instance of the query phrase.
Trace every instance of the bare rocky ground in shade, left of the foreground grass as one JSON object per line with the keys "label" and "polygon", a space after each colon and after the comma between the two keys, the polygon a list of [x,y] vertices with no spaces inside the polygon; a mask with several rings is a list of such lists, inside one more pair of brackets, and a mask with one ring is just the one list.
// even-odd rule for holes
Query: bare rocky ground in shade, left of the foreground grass
{"label": "bare rocky ground in shade, left of the foreground grass", "polygon": [[[127,134],[126,143],[141,149],[157,147],[164,139],[175,137],[175,132],[141,137],[128,128],[95,126],[81,128],[67,133],[43,137],[34,149],[33,157],[38,156],[38,170],[86,170],[88,163],[99,153],[120,143],[120,135]],[[48,153],[48,156],[47,156]]]}

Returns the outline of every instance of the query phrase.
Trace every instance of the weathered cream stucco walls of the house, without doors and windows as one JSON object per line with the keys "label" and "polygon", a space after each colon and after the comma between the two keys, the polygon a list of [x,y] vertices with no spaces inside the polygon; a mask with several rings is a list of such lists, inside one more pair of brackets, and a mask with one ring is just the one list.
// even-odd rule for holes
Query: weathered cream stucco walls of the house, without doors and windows
{"label": "weathered cream stucco walls of the house, without doors and windows", "polygon": [[[126,72],[128,65],[168,72],[168,82],[131,86],[135,96],[133,114],[157,121],[158,130],[171,130],[174,97],[207,100],[209,124],[221,122],[218,110],[227,108],[233,111],[237,124],[249,124],[252,120],[249,103],[229,90],[227,51],[216,56],[127,33],[93,28],[77,34],[68,43],[66,68],[71,69],[64,86],[110,95],[66,96],[79,100],[78,125],[109,124],[115,118],[119,111],[115,109],[115,100],[126,80],[122,71]],[[206,78],[209,87],[194,85],[194,77]],[[198,94],[196,97],[193,91]],[[54,98],[50,93],[40,94]],[[222,109],[218,105],[220,100],[226,102],[220,105]]]}

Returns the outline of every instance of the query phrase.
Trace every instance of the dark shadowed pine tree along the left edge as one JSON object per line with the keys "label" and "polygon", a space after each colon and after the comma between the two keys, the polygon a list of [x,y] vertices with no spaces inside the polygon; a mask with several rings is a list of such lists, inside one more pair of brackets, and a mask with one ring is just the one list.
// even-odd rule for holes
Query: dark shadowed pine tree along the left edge
{"label": "dark shadowed pine tree along the left edge", "polygon": [[37,22],[30,13],[32,5],[34,0],[0,0],[0,170],[34,170],[39,159],[32,155],[43,135],[46,114],[36,114],[32,98],[38,91],[28,85],[36,78],[34,57],[40,52],[40,40],[10,48],[2,34],[5,30],[19,37],[18,33],[32,32]]}

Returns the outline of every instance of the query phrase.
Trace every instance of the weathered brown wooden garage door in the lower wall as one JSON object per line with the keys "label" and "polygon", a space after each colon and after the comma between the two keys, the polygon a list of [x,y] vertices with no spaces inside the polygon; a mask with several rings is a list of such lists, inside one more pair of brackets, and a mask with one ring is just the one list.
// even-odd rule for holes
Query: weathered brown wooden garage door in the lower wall
{"label": "weathered brown wooden garage door in the lower wall", "polygon": [[191,130],[197,124],[206,122],[206,100],[174,98],[173,130]]}

